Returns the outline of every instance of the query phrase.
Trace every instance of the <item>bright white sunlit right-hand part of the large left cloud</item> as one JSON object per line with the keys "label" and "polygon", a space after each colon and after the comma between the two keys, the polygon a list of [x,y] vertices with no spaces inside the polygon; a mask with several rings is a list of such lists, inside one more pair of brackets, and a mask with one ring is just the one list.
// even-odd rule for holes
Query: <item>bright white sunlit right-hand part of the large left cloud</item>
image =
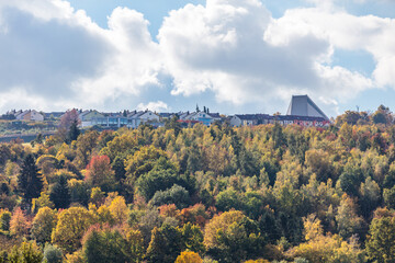
{"label": "bright white sunlit right-hand part of the large left cloud", "polygon": [[109,98],[138,95],[147,84],[159,85],[158,44],[151,41],[147,26],[148,21],[134,10],[116,8],[113,11],[109,18],[110,28],[105,31],[113,54],[104,61],[99,77],[79,79],[74,83],[75,90],[82,92],[81,100],[100,105]]}

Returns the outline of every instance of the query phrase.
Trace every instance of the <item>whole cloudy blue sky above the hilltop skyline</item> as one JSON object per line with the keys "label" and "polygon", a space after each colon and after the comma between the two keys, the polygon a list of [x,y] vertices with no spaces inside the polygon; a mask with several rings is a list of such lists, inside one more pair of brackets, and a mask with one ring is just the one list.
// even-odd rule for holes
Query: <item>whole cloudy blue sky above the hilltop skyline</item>
{"label": "whole cloudy blue sky above the hilltop skyline", "polygon": [[0,0],[0,113],[395,105],[393,0]]}

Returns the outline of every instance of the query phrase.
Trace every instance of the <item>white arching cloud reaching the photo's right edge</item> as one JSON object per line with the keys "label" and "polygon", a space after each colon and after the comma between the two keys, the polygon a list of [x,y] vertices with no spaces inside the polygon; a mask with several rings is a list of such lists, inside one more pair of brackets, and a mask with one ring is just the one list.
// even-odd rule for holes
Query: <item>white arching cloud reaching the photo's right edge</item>
{"label": "white arching cloud reaching the photo's right edge", "polygon": [[[303,34],[314,34],[326,39],[332,48],[345,50],[365,50],[376,62],[372,80],[357,77],[359,92],[372,87],[395,88],[395,20],[374,15],[356,16],[345,11],[320,9],[294,9],[271,24],[266,38],[274,44],[287,43],[290,38]],[[329,56],[330,58],[330,56]],[[349,81],[345,82],[346,87]],[[352,94],[351,94],[352,95]]]}

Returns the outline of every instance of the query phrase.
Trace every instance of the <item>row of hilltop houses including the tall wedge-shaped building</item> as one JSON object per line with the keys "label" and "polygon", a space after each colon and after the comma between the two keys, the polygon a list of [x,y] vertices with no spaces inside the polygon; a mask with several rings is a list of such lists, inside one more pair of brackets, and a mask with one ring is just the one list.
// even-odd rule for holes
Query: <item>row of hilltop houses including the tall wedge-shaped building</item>
{"label": "row of hilltop houses including the tall wedge-shaped building", "polygon": [[[81,127],[100,126],[102,128],[120,128],[123,126],[137,128],[142,124],[149,123],[155,127],[165,125],[166,119],[177,116],[182,126],[201,123],[211,126],[215,122],[228,121],[232,126],[255,126],[264,124],[280,125],[301,125],[306,127],[326,127],[330,125],[329,118],[325,113],[307,96],[294,95],[290,103],[286,115],[269,114],[236,114],[233,116],[219,115],[219,113],[210,113],[208,110],[203,112],[178,112],[178,113],[156,113],[151,111],[124,111],[120,113],[100,113],[95,110],[78,111],[81,121]],[[44,121],[48,116],[34,110],[11,111],[9,115],[14,115],[21,121]],[[61,117],[64,113],[50,113],[49,116]],[[48,115],[48,114],[47,114]]]}

